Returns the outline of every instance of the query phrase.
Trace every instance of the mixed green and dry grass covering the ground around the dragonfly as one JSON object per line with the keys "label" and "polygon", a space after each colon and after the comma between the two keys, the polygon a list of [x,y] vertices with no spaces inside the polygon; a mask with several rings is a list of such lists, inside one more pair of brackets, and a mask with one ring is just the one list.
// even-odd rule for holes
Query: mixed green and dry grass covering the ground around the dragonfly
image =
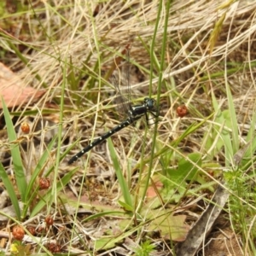
{"label": "mixed green and dry grass covering the ground around the dragonfly", "polygon": [[[253,255],[254,5],[1,4],[3,63],[19,73],[22,86],[44,90],[36,102],[19,102],[14,92],[18,104],[3,103],[0,175],[7,206],[14,207],[13,214],[0,210],[9,239],[3,253],[175,254],[224,186],[230,196],[219,218],[228,224],[217,220],[207,241],[217,229],[235,238],[218,252],[202,241],[198,255],[226,249]],[[123,120],[115,112],[111,75],[123,72],[130,47],[134,103],[153,97],[158,122],[138,120],[67,166]],[[189,110],[183,118],[182,105]],[[20,131],[24,122],[28,134]],[[10,239],[16,224],[26,240]]]}

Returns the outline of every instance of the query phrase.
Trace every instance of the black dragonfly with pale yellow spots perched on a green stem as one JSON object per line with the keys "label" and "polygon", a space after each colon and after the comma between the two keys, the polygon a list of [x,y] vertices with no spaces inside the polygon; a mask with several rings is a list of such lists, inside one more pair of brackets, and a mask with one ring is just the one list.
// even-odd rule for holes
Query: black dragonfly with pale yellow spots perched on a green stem
{"label": "black dragonfly with pale yellow spots perched on a green stem", "polygon": [[[129,77],[129,73],[128,73],[128,77]],[[113,81],[117,81],[117,79],[113,79]],[[129,81],[129,78],[128,78],[128,81]],[[114,86],[119,94],[119,99],[122,100],[123,108],[125,108],[125,110],[126,110],[126,113],[127,113],[126,119],[123,120],[122,122],[120,122],[119,125],[116,125],[115,127],[113,127],[112,130],[107,131],[101,137],[98,137],[95,140],[93,140],[92,142],[90,142],[90,144],[87,145],[85,148],[83,148],[78,154],[73,155],[73,157],[70,160],[68,160],[68,162],[67,162],[68,165],[72,165],[73,162],[75,162],[76,160],[79,160],[79,158],[81,156],[83,156],[84,154],[86,154],[87,152],[89,152],[90,149],[96,147],[100,143],[103,143],[104,141],[106,141],[108,139],[108,137],[113,136],[113,134],[115,134],[116,132],[121,131],[122,129],[124,129],[125,127],[127,127],[129,125],[134,124],[138,119],[145,117],[147,120],[147,125],[150,125],[148,122],[150,114],[155,119],[157,119],[159,117],[160,108],[157,105],[157,102],[153,98],[145,97],[141,104],[132,105],[131,102],[125,101],[125,96],[123,96],[121,94],[121,90],[119,90],[119,83],[114,82]],[[127,86],[128,86],[127,91],[129,92],[130,91],[130,89],[129,89],[130,83],[127,83]]]}

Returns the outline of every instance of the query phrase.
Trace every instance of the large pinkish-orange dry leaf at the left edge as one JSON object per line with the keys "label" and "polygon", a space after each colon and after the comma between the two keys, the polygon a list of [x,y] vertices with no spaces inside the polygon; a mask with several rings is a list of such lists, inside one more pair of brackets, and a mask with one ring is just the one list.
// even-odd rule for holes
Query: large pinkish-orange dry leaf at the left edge
{"label": "large pinkish-orange dry leaf at the left edge", "polygon": [[[45,90],[35,90],[26,86],[9,67],[0,62],[0,96],[3,97],[8,108],[21,106],[27,102],[35,102],[45,92]],[[0,108],[3,108],[1,99]]]}

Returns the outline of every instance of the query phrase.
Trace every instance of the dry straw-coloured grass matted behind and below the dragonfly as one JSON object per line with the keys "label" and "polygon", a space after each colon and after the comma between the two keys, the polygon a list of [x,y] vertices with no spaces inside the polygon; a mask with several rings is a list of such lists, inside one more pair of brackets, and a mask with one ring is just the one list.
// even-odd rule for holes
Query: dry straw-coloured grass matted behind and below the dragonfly
{"label": "dry straw-coloured grass matted behind and below the dragonfly", "polygon": [[[156,95],[159,81],[159,71],[156,66],[159,63],[153,63],[154,58],[150,57],[148,49],[154,34],[159,1],[129,0],[97,3],[97,1],[55,0],[33,1],[33,8],[27,6],[29,8],[24,14],[10,15],[12,26],[7,22],[7,18],[0,20],[3,27],[0,46],[4,55],[3,62],[14,71],[18,71],[20,79],[27,86],[46,90],[37,104],[33,106],[27,104],[12,109],[12,111],[20,110],[22,113],[29,109],[39,109],[39,113],[34,114],[32,122],[34,131],[42,131],[42,134],[39,136],[36,148],[30,148],[29,153],[37,155],[35,162],[40,158],[40,154],[43,154],[43,148],[49,143],[49,137],[60,132],[57,128],[61,121],[59,116],[61,97],[64,99],[61,151],[64,151],[68,144],[74,143],[77,138],[80,138],[78,145],[86,145],[91,136],[97,137],[117,125],[116,115],[110,113],[113,109],[113,86],[108,82],[104,83],[102,71],[108,71],[113,65],[114,57],[119,55],[126,45],[131,44],[131,63],[137,66],[137,69],[133,69],[131,73],[132,91],[140,98],[148,96],[150,65],[154,64],[151,73],[152,92],[153,96]],[[162,117],[158,127],[160,134],[157,137],[159,147],[173,149],[171,138],[177,139],[189,125],[200,122],[213,113],[212,95],[217,97],[221,109],[229,108],[226,84],[230,84],[236,107],[239,139],[241,143],[244,142],[255,112],[255,9],[256,3],[253,1],[227,3],[226,6],[223,1],[216,0],[173,1],[167,27],[166,65],[162,70],[160,96]],[[166,9],[162,9],[157,40],[154,42],[154,55],[158,61],[165,36],[165,15]],[[9,41],[26,57],[27,65],[14,54]],[[80,76],[77,84],[71,79],[72,74],[75,78]],[[112,94],[109,94],[110,91]],[[50,105],[49,102],[55,102],[55,105]],[[184,119],[178,118],[176,113],[177,106],[181,104],[189,108],[189,116]],[[53,113],[44,114],[43,110],[46,109],[50,109]],[[181,150],[183,156],[189,152],[200,152],[202,159],[207,163],[208,154],[211,152],[207,152],[202,137],[209,129],[209,124],[215,122],[214,118],[207,122],[208,126],[201,126],[195,133],[189,135],[186,141],[179,143],[179,147],[183,148]],[[21,114],[16,125],[19,126],[23,119],[24,116]],[[41,121],[44,123],[43,129],[42,125],[39,127],[35,125]],[[139,124],[137,130],[144,128],[143,123]],[[134,167],[142,157],[148,158],[152,135],[148,131],[148,147],[142,155],[140,137],[133,137],[131,142],[131,134],[132,129],[129,128],[120,131],[113,137],[113,143],[121,169],[135,191],[137,170],[133,168],[130,170],[128,166],[130,163]],[[38,137],[38,133],[35,137]],[[78,150],[79,146],[75,147],[72,154]],[[107,153],[102,154],[102,151],[106,150]],[[173,150],[177,154],[177,149]],[[91,153],[90,161],[86,162],[85,167],[81,162],[77,162],[79,172],[71,180],[69,189],[64,189],[69,198],[77,200],[75,196],[79,195],[80,201],[86,204],[87,207],[84,208],[87,210],[69,209],[68,217],[65,218],[61,218],[61,214],[58,214],[58,207],[51,210],[48,207],[42,212],[43,215],[53,212],[51,215],[56,216],[55,224],[58,226],[55,230],[49,230],[44,234],[46,239],[57,241],[61,243],[63,250],[80,253],[79,255],[95,254],[92,241],[104,234],[100,230],[108,230],[109,225],[118,226],[115,223],[117,216],[113,219],[96,218],[87,223],[83,222],[83,218],[95,214],[88,206],[96,207],[97,211],[107,211],[108,205],[111,206],[109,211],[120,210],[116,207],[120,194],[119,183],[115,178],[114,167],[110,164],[108,147],[100,146],[97,151],[100,153]],[[26,154],[24,157],[26,158]],[[224,164],[224,154],[214,157],[214,160],[221,164],[220,166]],[[67,173],[73,169],[67,166],[67,160],[68,157],[62,161],[59,169],[56,168],[55,177],[57,172]],[[51,161],[55,162],[54,155]],[[177,165],[177,159],[170,161],[170,166],[172,164]],[[10,166],[7,168],[11,169]],[[161,168],[160,158],[156,158],[151,172],[159,172]],[[130,173],[129,170],[134,173]],[[148,171],[147,165],[144,166],[144,171]],[[209,179],[213,179],[212,174],[203,171]],[[69,194],[70,191],[73,191],[73,195]],[[184,206],[187,200],[189,201],[189,198],[180,203]],[[193,208],[190,211],[193,212]],[[201,214],[198,208],[196,211]],[[73,214],[73,212],[77,213]],[[191,218],[192,216],[195,218],[195,214],[191,212],[183,211]],[[38,218],[44,219],[44,217]],[[72,225],[73,221],[76,224],[75,229]],[[29,219],[26,220],[26,224],[29,223]],[[138,247],[143,239],[149,239],[145,235],[146,232],[140,231],[141,233],[138,234],[143,235],[124,236],[125,246],[118,244],[114,249],[110,248],[109,251],[106,249],[105,252],[108,252],[108,255],[116,255],[114,250],[115,253],[120,253],[119,255],[134,253],[134,247]],[[154,240],[154,236],[151,236],[150,241],[155,245],[158,254],[166,255],[173,250],[169,241],[166,242],[162,236],[158,236],[158,240]],[[222,250],[224,251],[223,248]],[[252,252],[250,250],[249,247],[241,249],[244,255],[250,254]],[[220,253],[214,252],[215,255]],[[103,253],[99,254],[103,255]],[[234,255],[241,254],[236,251]]]}

